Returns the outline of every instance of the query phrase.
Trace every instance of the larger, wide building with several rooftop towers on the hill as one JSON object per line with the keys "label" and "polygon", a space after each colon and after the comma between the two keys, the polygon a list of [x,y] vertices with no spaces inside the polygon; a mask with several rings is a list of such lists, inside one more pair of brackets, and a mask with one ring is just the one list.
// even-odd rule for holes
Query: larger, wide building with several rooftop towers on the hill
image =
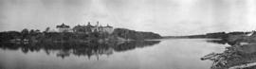
{"label": "larger, wide building with several rooftop towers on the hill", "polygon": [[99,22],[97,22],[96,26],[92,26],[90,22],[88,22],[87,26],[74,26],[73,28],[74,32],[80,32],[80,33],[90,33],[90,32],[107,32],[112,33],[114,31],[113,26],[99,26]]}

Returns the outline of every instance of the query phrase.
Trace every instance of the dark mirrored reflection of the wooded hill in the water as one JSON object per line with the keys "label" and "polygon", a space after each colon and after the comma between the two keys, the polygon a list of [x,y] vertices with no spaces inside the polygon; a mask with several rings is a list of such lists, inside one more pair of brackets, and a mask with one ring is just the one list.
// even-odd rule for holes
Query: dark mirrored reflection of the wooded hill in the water
{"label": "dark mirrored reflection of the wooded hill in the water", "polygon": [[114,52],[133,50],[138,47],[151,46],[160,41],[131,41],[119,43],[0,43],[0,48],[4,50],[19,50],[23,53],[39,52],[45,50],[46,54],[57,52],[56,57],[65,58],[70,55],[91,56],[112,55]]}

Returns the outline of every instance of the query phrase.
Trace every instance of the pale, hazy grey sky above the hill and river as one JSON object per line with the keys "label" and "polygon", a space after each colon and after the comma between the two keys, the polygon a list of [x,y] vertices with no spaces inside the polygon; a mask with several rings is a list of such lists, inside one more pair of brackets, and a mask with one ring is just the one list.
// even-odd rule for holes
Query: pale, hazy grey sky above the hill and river
{"label": "pale, hazy grey sky above the hill and river", "polygon": [[256,0],[0,0],[0,31],[91,22],[162,36],[256,29]]}

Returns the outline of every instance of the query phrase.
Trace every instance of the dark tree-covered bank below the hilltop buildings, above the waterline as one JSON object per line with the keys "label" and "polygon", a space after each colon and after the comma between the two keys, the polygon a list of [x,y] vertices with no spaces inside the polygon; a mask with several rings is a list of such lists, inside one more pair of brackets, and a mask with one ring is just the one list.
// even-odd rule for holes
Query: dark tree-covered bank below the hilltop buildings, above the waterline
{"label": "dark tree-covered bank below the hilltop buildings, above the waterline", "polygon": [[[47,29],[46,29],[47,30]],[[153,32],[135,31],[126,28],[116,28],[113,33],[106,32],[41,32],[27,28],[22,31],[4,31],[0,32],[0,42],[117,42],[126,40],[150,40],[160,39],[161,36]]]}

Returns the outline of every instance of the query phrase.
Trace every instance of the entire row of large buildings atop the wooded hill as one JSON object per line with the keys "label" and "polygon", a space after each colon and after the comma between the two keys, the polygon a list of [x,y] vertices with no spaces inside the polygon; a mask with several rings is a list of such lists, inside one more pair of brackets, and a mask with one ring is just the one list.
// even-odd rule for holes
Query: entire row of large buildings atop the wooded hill
{"label": "entire row of large buildings atop the wooded hill", "polygon": [[74,26],[70,28],[70,26],[64,25],[64,23],[60,26],[56,26],[58,32],[77,32],[77,33],[91,33],[91,32],[107,32],[112,33],[114,31],[113,26],[101,26],[100,23],[97,22],[97,25],[92,26],[90,22],[85,26]]}

